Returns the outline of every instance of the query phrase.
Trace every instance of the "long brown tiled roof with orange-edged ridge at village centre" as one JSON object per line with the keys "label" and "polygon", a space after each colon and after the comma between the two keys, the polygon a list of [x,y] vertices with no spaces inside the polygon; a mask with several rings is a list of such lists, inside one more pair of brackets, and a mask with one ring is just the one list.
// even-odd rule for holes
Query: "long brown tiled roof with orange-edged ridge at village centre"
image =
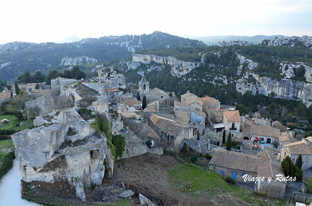
{"label": "long brown tiled roof with orange-edged ridge at village centre", "polygon": [[183,128],[183,125],[178,124],[178,122],[175,120],[170,120],[154,114],[151,115],[149,118],[151,119],[155,127],[157,127],[162,132],[167,133],[170,129],[171,136],[173,137],[177,137],[179,132]]}

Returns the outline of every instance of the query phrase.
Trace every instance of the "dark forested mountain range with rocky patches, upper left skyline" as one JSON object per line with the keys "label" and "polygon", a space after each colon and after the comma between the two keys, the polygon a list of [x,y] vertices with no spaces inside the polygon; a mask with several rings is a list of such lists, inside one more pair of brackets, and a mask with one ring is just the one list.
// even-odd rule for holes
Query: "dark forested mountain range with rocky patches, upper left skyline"
{"label": "dark forested mountain range with rocky patches, upper left skyline", "polygon": [[10,42],[0,45],[0,79],[14,80],[29,70],[48,73],[63,70],[76,64],[118,61],[131,56],[136,50],[166,49],[175,47],[205,47],[201,41],[155,31],[151,34],[85,38],[79,42],[73,36],[67,43]]}

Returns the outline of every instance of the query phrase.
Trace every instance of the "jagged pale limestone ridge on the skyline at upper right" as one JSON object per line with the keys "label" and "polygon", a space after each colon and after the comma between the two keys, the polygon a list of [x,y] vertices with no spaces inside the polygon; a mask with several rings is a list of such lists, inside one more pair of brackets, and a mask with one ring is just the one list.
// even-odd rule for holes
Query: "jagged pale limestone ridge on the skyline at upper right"
{"label": "jagged pale limestone ridge on the skyline at upper right", "polygon": [[282,46],[282,45],[290,45],[291,47],[295,46],[295,42],[300,41],[303,42],[303,44],[306,47],[310,47],[312,49],[312,37],[309,37],[307,35],[304,35],[302,37],[292,36],[292,37],[273,37],[271,40],[266,43],[266,41],[261,41],[260,44],[267,44],[268,46]]}

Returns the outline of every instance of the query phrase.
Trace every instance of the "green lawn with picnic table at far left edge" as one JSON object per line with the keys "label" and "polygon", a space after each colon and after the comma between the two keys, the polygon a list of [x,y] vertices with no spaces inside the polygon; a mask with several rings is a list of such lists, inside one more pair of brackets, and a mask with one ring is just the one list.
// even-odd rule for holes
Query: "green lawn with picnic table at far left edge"
{"label": "green lawn with picnic table at far left edge", "polygon": [[[15,117],[15,120],[14,120]],[[9,130],[25,130],[33,125],[33,118],[30,118],[26,121],[22,119],[18,119],[16,116],[13,115],[0,115],[0,120],[7,119],[9,120],[8,123],[0,123],[0,129],[9,129]],[[22,126],[16,126],[17,123],[23,122]]]}

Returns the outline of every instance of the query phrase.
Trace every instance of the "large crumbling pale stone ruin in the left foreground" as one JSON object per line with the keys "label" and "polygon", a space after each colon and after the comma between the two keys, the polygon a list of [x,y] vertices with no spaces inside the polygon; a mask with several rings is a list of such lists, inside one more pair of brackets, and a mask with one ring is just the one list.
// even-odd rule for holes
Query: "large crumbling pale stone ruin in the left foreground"
{"label": "large crumbling pale stone ruin in the left foreground", "polygon": [[109,164],[107,176],[112,176],[114,160],[106,138],[74,108],[54,110],[34,124],[36,128],[11,135],[24,181],[68,181],[83,198],[81,184],[101,184],[104,161]]}

